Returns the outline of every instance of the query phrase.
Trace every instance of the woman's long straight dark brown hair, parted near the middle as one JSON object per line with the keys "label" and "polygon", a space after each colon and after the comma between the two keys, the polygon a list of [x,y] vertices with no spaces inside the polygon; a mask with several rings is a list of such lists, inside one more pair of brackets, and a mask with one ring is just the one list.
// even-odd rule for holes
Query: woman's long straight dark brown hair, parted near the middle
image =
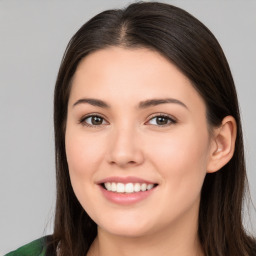
{"label": "woman's long straight dark brown hair, parted near the middle", "polygon": [[201,192],[198,234],[207,256],[252,255],[254,241],[242,224],[247,187],[238,100],[225,55],[213,34],[186,11],[163,3],[134,3],[104,11],[84,24],[64,54],[54,96],[57,201],[50,248],[61,255],[84,255],[97,225],[78,202],[69,178],[65,124],[72,77],[88,54],[110,46],[153,49],[174,63],[207,107],[209,127],[232,115],[237,122],[235,152],[220,171],[207,174]]}

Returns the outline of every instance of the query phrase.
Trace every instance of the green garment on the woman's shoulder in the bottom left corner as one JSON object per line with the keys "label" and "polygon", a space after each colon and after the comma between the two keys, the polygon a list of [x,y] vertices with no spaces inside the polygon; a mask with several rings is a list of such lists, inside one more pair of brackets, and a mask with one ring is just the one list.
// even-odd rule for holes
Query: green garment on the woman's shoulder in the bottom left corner
{"label": "green garment on the woman's shoulder in the bottom left corner", "polygon": [[5,256],[45,256],[47,236],[26,244]]}

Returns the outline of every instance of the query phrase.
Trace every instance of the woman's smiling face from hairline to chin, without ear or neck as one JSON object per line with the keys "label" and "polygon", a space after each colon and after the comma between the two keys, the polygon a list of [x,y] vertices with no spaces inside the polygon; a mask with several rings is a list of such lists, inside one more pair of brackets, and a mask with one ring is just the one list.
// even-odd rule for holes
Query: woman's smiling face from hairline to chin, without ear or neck
{"label": "woman's smiling face from hairline to chin, without ear or neck", "polygon": [[213,144],[206,107],[159,53],[112,47],[85,57],[65,140],[74,192],[100,230],[138,237],[197,228]]}

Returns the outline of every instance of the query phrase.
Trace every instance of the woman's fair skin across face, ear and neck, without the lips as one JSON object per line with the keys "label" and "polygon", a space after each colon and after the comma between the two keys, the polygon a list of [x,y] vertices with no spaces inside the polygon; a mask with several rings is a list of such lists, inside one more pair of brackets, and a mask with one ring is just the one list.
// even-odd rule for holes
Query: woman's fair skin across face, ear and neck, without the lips
{"label": "woman's fair skin across face, ear and neck, without the lips", "polygon": [[[85,98],[108,107],[81,102]],[[181,103],[141,107],[167,98]],[[100,125],[92,125],[92,114],[102,117]],[[168,116],[166,124],[155,115]],[[65,140],[74,192],[98,225],[88,255],[203,255],[197,235],[201,187],[207,172],[232,157],[236,133],[232,117],[211,136],[208,128],[203,99],[159,53],[110,47],[80,62]],[[118,205],[98,185],[110,176],[158,186],[138,203]]]}

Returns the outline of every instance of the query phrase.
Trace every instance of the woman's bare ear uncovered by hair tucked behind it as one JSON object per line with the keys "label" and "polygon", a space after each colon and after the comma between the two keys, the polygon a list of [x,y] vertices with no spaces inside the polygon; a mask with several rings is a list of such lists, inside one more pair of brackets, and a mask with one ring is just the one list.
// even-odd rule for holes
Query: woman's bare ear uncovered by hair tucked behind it
{"label": "woman's bare ear uncovered by hair tucked behind it", "polygon": [[221,126],[214,130],[210,149],[207,172],[213,173],[229,162],[235,151],[236,121],[232,116],[226,116]]}

